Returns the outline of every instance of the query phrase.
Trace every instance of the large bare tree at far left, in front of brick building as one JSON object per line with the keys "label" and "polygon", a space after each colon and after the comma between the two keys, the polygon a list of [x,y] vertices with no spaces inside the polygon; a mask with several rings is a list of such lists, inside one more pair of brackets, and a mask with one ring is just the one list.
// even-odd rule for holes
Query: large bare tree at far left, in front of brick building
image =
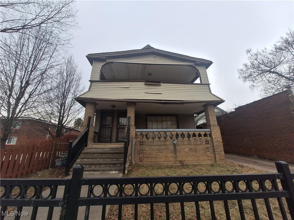
{"label": "large bare tree at far left, in front of brick building", "polygon": [[55,34],[50,29],[33,34],[15,33],[0,40],[1,148],[13,122],[33,115],[52,89],[51,72],[59,62]]}

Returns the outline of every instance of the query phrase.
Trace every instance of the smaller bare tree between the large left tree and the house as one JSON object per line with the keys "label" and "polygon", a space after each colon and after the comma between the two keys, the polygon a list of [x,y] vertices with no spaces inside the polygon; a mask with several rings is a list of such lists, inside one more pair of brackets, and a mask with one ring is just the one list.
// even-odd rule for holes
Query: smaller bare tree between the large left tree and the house
{"label": "smaller bare tree between the large left tree and the house", "polygon": [[[42,112],[43,119],[55,124],[55,131],[49,130],[53,138],[63,136],[73,128],[76,118],[81,114],[83,106],[74,99],[84,90],[82,84],[82,73],[73,55],[69,55],[64,63],[58,68],[54,89],[45,95],[46,105]],[[48,126],[48,123],[44,123]]]}

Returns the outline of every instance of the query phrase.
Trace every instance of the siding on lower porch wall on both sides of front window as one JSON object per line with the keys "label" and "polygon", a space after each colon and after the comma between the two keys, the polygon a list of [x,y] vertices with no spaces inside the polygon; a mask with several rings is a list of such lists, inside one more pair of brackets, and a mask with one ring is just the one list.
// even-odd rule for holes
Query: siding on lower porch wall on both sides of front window
{"label": "siding on lower porch wall on both sides of front window", "polygon": [[[178,114],[178,122],[179,129],[195,129],[193,114]],[[135,114],[135,127],[136,129],[146,129],[146,114]]]}

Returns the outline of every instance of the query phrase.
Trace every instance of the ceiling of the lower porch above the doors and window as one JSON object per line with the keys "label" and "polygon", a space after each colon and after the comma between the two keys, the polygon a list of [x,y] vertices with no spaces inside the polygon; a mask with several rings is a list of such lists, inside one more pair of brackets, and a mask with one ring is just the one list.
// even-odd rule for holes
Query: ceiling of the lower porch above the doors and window
{"label": "ceiling of the lower porch above the doors and window", "polygon": [[[97,109],[126,110],[127,103],[121,101],[96,101]],[[136,102],[137,114],[193,114],[203,111],[204,103],[158,104]],[[112,108],[111,105],[115,105]]]}

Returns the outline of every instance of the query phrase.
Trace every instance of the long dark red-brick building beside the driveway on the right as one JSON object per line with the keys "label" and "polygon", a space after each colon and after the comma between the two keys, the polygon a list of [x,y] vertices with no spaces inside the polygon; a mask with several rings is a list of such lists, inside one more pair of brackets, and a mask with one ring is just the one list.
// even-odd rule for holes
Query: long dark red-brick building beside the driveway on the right
{"label": "long dark red-brick building beside the driveway on the right", "polygon": [[225,153],[294,163],[293,86],[217,118]]}

